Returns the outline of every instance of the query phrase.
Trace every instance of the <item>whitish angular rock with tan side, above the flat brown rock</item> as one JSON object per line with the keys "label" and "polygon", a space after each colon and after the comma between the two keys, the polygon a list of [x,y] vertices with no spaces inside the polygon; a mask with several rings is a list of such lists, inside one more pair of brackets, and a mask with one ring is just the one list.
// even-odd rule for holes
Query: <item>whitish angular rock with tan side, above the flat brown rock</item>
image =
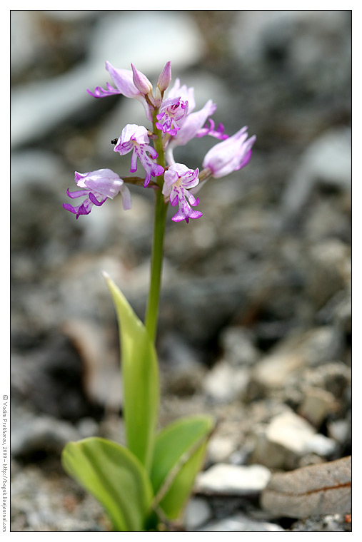
{"label": "whitish angular rock with tan side, above the flat brown rock", "polygon": [[271,419],[268,426],[257,429],[252,461],[269,469],[293,469],[306,454],[329,456],[335,449],[335,441],[316,434],[316,429],[301,416],[285,411]]}

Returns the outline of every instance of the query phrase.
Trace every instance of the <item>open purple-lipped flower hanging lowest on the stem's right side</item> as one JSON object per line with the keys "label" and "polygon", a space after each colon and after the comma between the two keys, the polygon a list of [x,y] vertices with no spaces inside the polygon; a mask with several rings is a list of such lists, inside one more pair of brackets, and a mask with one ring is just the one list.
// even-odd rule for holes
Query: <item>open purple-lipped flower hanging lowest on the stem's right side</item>
{"label": "open purple-lipped flower hanging lowest on the stem's right side", "polygon": [[[186,165],[176,163],[171,165],[164,175],[164,186],[162,193],[166,199],[170,200],[172,206],[179,205],[179,210],[172,217],[174,222],[188,220],[190,218],[200,218],[202,213],[191,208],[190,205],[198,205],[198,198],[194,198],[189,188],[198,184],[198,169],[188,169]],[[187,199],[186,199],[187,198]]]}

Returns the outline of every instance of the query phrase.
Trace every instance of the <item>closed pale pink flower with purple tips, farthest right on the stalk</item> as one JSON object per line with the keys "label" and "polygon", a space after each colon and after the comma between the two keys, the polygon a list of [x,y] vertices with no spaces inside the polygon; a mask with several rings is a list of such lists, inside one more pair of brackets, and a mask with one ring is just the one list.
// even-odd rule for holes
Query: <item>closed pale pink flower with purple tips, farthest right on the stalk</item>
{"label": "closed pale pink flower with purple tips, farthest right on the stalk", "polygon": [[225,177],[232,171],[238,171],[250,161],[251,147],[256,136],[248,138],[247,130],[248,127],[244,126],[231,138],[217,143],[203,158],[203,168],[210,170],[214,178]]}

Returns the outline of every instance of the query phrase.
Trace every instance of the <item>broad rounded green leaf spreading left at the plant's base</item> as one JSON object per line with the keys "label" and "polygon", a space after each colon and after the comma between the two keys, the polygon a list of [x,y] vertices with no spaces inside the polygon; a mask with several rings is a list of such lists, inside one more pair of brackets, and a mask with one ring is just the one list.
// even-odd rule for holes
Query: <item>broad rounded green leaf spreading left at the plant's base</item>
{"label": "broad rounded green leaf spreading left at the plant's base", "polygon": [[153,491],[139,460],[120,444],[91,437],[66,444],[64,470],[106,509],[116,531],[142,531]]}

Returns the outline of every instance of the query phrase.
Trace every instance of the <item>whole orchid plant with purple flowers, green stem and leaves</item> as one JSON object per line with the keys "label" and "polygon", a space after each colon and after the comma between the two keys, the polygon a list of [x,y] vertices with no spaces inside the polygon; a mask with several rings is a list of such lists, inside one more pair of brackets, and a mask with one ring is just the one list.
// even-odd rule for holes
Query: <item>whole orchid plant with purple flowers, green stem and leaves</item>
{"label": "whole orchid plant with purple flowers, green stem and leaves", "polygon": [[[94,205],[100,207],[121,193],[124,210],[128,210],[131,193],[127,185],[154,190],[149,298],[143,323],[104,273],[119,322],[126,444],[121,446],[99,437],[69,442],[62,463],[66,472],[104,506],[114,531],[155,531],[181,516],[214,426],[211,416],[195,415],[178,419],[161,430],[158,427],[159,366],[154,343],[166,213],[170,204],[178,207],[171,218],[174,222],[200,219],[202,213],[196,209],[198,190],[211,177],[222,178],[243,168],[251,159],[256,137],[248,138],[246,127],[231,137],[224,133],[222,124],[216,128],[211,119],[216,104],[211,100],[194,111],[193,88],[181,86],[179,79],[169,88],[171,62],[161,71],[155,91],[133,64],[131,70],[125,70],[106,62],[106,70],[114,86],[106,83],[106,88],[98,86],[88,93],[94,98],[121,94],[142,103],[151,127],[128,124],[111,143],[121,156],[132,153],[130,173],[137,172],[139,163],[145,173],[120,178],[108,168],[76,172],[74,180],[79,190],[67,190],[67,194],[71,199],[84,200],[76,207],[64,203],[64,208],[78,219],[91,213]],[[219,142],[203,158],[201,170],[176,162],[174,152],[178,146],[204,136]]]}

